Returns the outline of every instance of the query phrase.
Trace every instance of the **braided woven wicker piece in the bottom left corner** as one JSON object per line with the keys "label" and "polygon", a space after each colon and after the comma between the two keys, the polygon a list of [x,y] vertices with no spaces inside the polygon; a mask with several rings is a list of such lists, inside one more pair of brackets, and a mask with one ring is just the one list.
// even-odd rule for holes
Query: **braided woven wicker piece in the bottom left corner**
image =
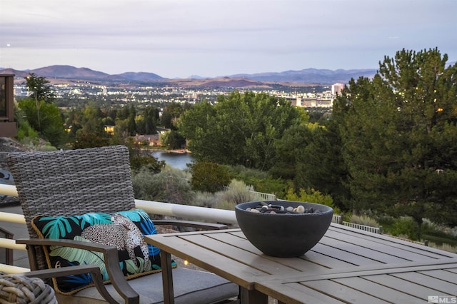
{"label": "braided woven wicker piece in the bottom left corner", "polygon": [[40,278],[0,275],[0,303],[57,303],[54,289]]}

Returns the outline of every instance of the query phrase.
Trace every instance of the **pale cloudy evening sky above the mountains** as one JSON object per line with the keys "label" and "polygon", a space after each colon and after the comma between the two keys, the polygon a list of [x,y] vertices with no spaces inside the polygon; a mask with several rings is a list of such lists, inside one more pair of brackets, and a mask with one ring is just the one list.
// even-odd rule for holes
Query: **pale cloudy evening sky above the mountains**
{"label": "pale cloudy evening sky above the mountains", "polygon": [[457,61],[456,0],[0,0],[0,68],[166,78]]}

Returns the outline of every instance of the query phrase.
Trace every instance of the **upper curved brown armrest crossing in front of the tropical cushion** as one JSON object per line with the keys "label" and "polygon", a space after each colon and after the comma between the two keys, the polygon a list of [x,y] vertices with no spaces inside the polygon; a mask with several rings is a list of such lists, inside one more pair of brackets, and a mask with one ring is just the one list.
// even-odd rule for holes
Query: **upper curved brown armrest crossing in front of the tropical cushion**
{"label": "upper curved brown armrest crossing in front of the tropical cushion", "polygon": [[[119,265],[119,255],[117,248],[111,245],[104,245],[99,243],[89,243],[89,242],[81,242],[77,240],[61,240],[61,239],[51,239],[51,238],[29,238],[29,239],[17,239],[17,244],[26,244],[29,245],[41,245],[41,246],[49,246],[49,245],[60,245],[63,247],[71,247],[71,248],[79,248],[85,250],[92,250],[99,253],[103,253],[105,264],[106,264],[106,271],[109,275],[109,280],[111,284],[114,286],[116,291],[124,298],[126,303],[139,303],[139,294],[131,288],[129,283],[127,283],[126,278],[124,277],[124,273],[121,271],[121,267]],[[71,267],[73,268],[73,267]],[[36,270],[39,271],[39,270]],[[100,270],[99,270],[100,272]],[[101,274],[100,274],[101,275]],[[97,289],[99,289],[97,287]],[[106,290],[106,289],[105,289]],[[100,290],[99,290],[100,291]],[[104,295],[103,292],[101,292]],[[109,297],[111,298],[111,296]],[[111,298],[112,299],[112,298]],[[106,299],[109,300],[109,299]]]}

